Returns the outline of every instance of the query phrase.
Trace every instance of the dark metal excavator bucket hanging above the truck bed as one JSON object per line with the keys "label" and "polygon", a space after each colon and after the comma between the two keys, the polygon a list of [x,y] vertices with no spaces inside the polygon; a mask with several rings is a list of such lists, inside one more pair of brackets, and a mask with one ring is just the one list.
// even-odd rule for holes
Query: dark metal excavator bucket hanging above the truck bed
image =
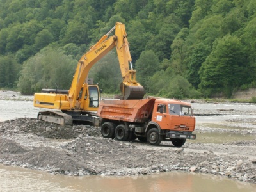
{"label": "dark metal excavator bucket hanging above the truck bed", "polygon": [[120,88],[123,94],[122,99],[124,100],[143,99],[145,95],[145,90],[140,84],[134,86],[121,83]]}

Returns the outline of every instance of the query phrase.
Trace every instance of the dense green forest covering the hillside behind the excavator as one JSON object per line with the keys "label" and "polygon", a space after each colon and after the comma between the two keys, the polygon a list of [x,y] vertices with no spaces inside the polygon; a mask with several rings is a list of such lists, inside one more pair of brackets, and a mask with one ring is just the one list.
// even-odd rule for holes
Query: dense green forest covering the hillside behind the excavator
{"label": "dense green forest covering the hillside behind the excavator", "polygon": [[[147,95],[232,98],[256,88],[255,12],[255,0],[0,0],[0,89],[70,88],[77,61],[122,22]],[[120,93],[114,49],[89,76]]]}

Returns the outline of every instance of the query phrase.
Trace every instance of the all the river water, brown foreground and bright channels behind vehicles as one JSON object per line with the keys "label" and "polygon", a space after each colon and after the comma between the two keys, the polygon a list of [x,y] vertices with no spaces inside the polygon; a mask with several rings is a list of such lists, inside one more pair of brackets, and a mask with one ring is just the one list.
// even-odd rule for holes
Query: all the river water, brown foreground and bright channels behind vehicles
{"label": "all the river water, brown foreground and bright channels behind vehicles", "polygon": [[[255,105],[193,104],[194,109],[225,108],[255,111]],[[31,101],[0,100],[0,121],[17,117],[33,117],[42,109]],[[196,123],[225,121],[228,118],[248,118],[248,115],[198,116]],[[236,128],[236,127],[235,127]],[[255,136],[230,133],[197,132],[195,142],[222,143],[230,140],[252,140]],[[190,142],[190,141],[189,141]],[[194,141],[191,141],[194,142]],[[256,191],[256,184],[246,184],[214,175],[170,172],[140,177],[68,177],[0,164],[0,191]]]}

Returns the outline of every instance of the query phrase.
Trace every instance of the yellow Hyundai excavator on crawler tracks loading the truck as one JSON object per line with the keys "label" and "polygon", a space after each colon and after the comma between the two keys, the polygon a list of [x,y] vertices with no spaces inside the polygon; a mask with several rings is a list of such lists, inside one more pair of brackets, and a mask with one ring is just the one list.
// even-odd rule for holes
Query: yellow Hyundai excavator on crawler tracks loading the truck
{"label": "yellow Hyundai excavator on crawler tracks loading the truck", "polygon": [[[114,30],[115,35],[109,37]],[[136,81],[136,70],[132,68],[125,25],[116,22],[115,26],[81,57],[69,90],[43,89],[42,93],[35,93],[35,107],[58,109],[39,112],[38,119],[61,125],[72,125],[73,122],[99,124],[99,119],[95,118],[100,101],[99,87],[88,81],[88,73],[90,68],[114,47],[123,79],[120,84],[121,99],[143,99],[145,90]]]}

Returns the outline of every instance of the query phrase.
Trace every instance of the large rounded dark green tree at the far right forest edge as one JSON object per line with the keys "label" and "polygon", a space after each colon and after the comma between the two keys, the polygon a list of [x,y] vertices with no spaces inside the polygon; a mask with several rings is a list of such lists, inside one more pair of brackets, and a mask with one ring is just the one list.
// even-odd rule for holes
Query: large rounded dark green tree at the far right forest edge
{"label": "large rounded dark green tree at the far right forest edge", "polygon": [[226,35],[216,40],[200,68],[200,89],[207,97],[216,91],[231,97],[234,88],[250,83],[251,68],[246,66],[247,63],[246,49],[239,38]]}

